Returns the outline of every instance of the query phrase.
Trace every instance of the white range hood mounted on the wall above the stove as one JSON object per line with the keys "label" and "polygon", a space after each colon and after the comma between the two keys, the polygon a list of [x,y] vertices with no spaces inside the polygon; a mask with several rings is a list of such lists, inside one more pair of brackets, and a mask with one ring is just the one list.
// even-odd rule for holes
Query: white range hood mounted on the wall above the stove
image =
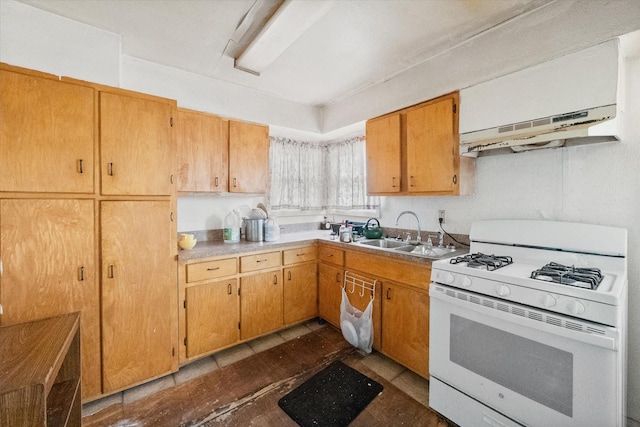
{"label": "white range hood mounted on the wall above the stove", "polygon": [[619,140],[618,52],[611,40],[461,90],[460,154]]}

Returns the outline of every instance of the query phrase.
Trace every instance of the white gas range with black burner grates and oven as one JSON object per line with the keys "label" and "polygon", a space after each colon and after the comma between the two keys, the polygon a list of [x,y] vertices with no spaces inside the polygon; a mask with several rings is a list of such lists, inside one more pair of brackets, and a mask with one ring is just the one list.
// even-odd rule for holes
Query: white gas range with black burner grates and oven
{"label": "white gas range with black burner grates and oven", "polygon": [[626,230],[480,221],[470,238],[432,265],[430,406],[463,427],[623,426]]}

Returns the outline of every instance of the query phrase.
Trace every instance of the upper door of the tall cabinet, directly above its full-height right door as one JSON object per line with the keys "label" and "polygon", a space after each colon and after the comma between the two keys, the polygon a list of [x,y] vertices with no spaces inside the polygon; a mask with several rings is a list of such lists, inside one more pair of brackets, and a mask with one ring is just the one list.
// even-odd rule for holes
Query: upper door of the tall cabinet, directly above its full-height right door
{"label": "upper door of the tall cabinet, directly above its full-height right door", "polygon": [[171,111],[167,103],[100,93],[102,194],[171,194]]}

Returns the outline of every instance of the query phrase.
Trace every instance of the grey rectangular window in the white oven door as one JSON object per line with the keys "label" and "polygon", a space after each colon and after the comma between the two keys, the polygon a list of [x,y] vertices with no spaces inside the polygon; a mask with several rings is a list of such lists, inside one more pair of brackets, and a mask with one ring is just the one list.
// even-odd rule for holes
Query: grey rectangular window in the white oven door
{"label": "grey rectangular window in the white oven door", "polygon": [[451,315],[451,361],[569,417],[573,355]]}

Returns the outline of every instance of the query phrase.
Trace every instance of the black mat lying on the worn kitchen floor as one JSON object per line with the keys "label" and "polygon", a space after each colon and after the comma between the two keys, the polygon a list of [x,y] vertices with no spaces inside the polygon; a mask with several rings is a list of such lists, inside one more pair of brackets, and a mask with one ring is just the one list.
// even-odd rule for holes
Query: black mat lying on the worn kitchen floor
{"label": "black mat lying on the worn kitchen floor", "polygon": [[335,361],[278,401],[302,427],[347,426],[382,392],[382,385]]}

